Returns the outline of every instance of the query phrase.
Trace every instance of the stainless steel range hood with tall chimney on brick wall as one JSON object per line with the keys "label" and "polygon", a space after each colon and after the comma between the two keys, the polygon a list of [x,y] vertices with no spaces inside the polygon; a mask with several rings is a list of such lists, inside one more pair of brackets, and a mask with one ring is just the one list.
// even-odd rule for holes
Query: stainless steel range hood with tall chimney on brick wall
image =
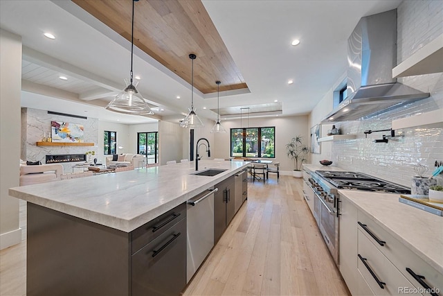
{"label": "stainless steel range hood with tall chimney on brick wall", "polygon": [[348,96],[322,123],[367,119],[429,93],[392,78],[397,64],[397,10],[360,19],[347,40]]}

